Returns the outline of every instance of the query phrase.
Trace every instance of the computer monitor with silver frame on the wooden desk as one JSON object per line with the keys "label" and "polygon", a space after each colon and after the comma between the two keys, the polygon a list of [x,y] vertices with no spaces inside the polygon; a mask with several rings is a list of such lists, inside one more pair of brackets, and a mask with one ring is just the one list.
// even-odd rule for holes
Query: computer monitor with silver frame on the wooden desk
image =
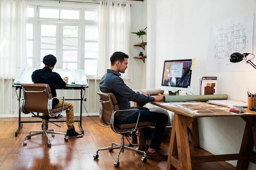
{"label": "computer monitor with silver frame on the wooden desk", "polygon": [[186,91],[191,81],[191,65],[192,59],[164,61],[161,89],[168,90],[170,94],[173,89]]}

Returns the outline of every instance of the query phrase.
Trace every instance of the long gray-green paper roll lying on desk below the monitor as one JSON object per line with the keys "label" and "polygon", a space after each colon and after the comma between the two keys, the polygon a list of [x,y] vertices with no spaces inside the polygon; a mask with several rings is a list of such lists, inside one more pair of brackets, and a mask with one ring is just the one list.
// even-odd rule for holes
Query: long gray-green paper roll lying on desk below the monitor
{"label": "long gray-green paper roll lying on desk below the monitor", "polygon": [[164,102],[189,102],[189,101],[204,102],[207,100],[227,100],[227,94],[164,96]]}

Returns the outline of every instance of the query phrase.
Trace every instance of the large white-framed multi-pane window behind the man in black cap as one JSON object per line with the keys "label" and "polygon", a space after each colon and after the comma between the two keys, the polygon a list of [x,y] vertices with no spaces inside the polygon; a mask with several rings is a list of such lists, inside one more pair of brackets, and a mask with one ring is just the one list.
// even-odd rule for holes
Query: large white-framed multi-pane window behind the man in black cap
{"label": "large white-framed multi-pane window behind the man in black cap", "polygon": [[97,8],[27,7],[27,63],[43,68],[53,54],[55,68],[84,69],[96,76],[98,58]]}

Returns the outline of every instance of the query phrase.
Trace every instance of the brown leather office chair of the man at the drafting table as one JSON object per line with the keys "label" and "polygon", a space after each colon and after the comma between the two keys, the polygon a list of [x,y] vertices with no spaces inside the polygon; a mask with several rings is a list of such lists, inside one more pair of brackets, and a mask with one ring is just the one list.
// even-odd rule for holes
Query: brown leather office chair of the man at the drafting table
{"label": "brown leather office chair of the man at the drafting table", "polygon": [[[61,113],[65,110],[68,110],[68,106],[63,106],[59,108],[52,109],[52,93],[49,85],[47,84],[23,84],[21,85],[23,96],[20,98],[20,111],[28,114],[32,113],[32,117],[42,118],[43,126],[42,130],[39,131],[29,131],[29,135],[26,135],[23,141],[24,145],[27,145],[27,140],[30,139],[31,136],[43,134],[43,136],[47,136],[48,143],[47,146],[51,146],[51,142],[47,133],[51,133],[52,137],[54,134],[65,135],[64,140],[67,141],[65,133],[55,132],[53,129],[47,130],[47,121],[49,119],[59,119],[62,118]],[[63,96],[56,97],[65,100]],[[40,115],[40,113],[49,113],[47,116]],[[49,121],[51,122],[51,121]],[[52,122],[53,123],[53,122]],[[55,124],[56,125],[56,124]],[[58,126],[58,125],[56,125]]]}

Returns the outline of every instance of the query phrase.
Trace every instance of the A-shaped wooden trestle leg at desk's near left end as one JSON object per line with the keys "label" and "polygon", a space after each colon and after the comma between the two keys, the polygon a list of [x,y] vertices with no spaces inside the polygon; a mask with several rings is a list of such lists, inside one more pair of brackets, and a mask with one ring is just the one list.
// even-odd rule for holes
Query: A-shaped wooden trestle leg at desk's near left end
{"label": "A-shaped wooden trestle leg at desk's near left end", "polygon": [[187,122],[188,117],[174,113],[166,170],[192,170]]}

